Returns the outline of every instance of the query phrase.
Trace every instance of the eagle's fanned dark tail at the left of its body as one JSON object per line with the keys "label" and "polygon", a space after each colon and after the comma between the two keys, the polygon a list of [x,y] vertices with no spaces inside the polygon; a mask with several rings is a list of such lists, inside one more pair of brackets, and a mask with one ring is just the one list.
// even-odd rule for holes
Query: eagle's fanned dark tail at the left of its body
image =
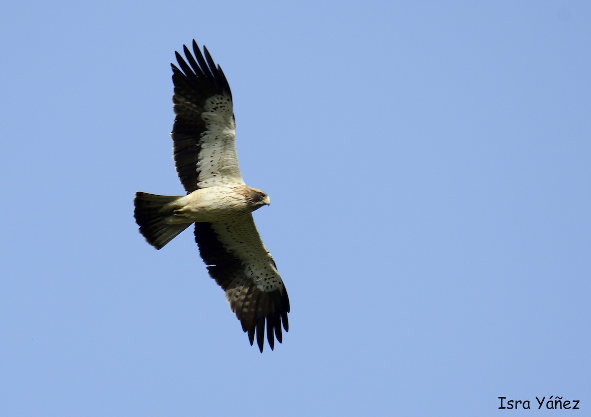
{"label": "eagle's fanned dark tail at the left of its body", "polygon": [[174,239],[180,232],[189,227],[190,223],[168,224],[172,212],[164,206],[180,195],[157,195],[138,191],[135,193],[135,222],[139,225],[139,232],[144,235],[150,245],[161,249]]}

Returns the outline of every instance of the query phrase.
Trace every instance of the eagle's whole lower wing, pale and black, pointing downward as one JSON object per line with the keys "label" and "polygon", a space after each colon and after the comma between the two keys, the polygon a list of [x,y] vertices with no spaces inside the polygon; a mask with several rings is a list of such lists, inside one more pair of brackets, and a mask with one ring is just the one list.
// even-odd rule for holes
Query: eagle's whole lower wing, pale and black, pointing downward
{"label": "eagle's whole lower wing, pale and black, pointing downward", "polygon": [[271,350],[274,336],[281,343],[281,325],[288,331],[290,300],[275,261],[261,241],[252,215],[215,223],[196,223],[195,241],[207,270],[224,291],[230,308],[248,332],[256,333],[259,350],[267,340]]}

